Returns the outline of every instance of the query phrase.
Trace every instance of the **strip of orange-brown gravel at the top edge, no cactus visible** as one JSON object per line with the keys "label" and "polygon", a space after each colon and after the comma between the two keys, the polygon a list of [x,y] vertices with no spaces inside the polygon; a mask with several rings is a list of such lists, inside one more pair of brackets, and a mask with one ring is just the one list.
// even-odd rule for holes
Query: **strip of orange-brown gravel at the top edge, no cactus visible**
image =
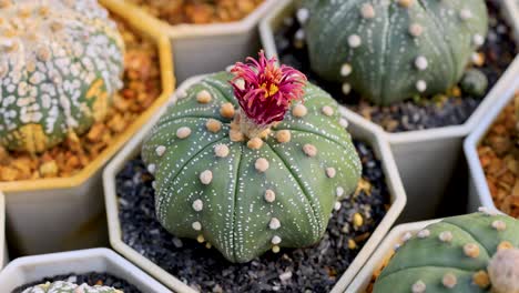
{"label": "strip of orange-brown gravel at the top edge, no cactus visible", "polygon": [[152,16],[179,23],[214,23],[241,20],[263,0],[130,0]]}

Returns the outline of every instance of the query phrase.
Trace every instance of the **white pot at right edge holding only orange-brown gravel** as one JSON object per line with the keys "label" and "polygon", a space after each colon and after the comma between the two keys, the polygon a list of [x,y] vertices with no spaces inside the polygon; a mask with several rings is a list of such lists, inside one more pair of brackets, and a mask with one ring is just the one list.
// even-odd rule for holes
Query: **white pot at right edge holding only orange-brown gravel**
{"label": "white pot at right edge holding only orange-brown gravel", "polygon": [[485,114],[476,129],[465,140],[465,156],[469,165],[469,212],[477,211],[479,206],[498,211],[493,204],[485,172],[479,161],[478,145],[505,107],[513,100],[516,90],[519,90],[519,75],[517,75],[515,87],[509,88],[508,91],[495,102],[493,107]]}

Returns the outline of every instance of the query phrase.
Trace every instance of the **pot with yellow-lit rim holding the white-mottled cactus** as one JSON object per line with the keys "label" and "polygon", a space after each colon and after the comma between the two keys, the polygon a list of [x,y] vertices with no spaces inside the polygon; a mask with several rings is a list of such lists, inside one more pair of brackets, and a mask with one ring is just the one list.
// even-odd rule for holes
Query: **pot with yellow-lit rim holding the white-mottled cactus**
{"label": "pot with yellow-lit rim holding the white-mottled cactus", "polygon": [[155,41],[162,94],[120,133],[99,156],[70,178],[0,182],[6,193],[9,243],[17,254],[39,254],[108,245],[102,169],[151,114],[164,105],[174,89],[173,61],[167,37],[142,21],[131,9],[101,4]]}

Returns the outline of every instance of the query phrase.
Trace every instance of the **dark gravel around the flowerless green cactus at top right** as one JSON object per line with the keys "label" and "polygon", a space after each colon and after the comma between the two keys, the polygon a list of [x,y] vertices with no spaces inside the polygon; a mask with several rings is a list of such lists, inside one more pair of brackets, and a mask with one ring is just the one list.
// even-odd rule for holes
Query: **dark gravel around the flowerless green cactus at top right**
{"label": "dark gravel around the flowerless green cactus at top right", "polygon": [[[487,0],[489,32],[485,44],[479,49],[479,52],[485,54],[486,62],[477,69],[488,79],[487,92],[496,84],[518,53],[512,29],[499,14],[501,1]],[[377,107],[355,92],[345,95],[340,84],[319,79],[309,68],[305,43],[295,39],[296,31],[301,29],[295,16],[285,19],[284,23],[275,33],[281,62],[301,70],[312,82],[332,93],[340,103],[381,125],[386,131],[403,132],[462,124],[481,102],[480,98],[465,92],[461,94],[446,92],[429,97],[430,99],[409,99],[389,107]]]}

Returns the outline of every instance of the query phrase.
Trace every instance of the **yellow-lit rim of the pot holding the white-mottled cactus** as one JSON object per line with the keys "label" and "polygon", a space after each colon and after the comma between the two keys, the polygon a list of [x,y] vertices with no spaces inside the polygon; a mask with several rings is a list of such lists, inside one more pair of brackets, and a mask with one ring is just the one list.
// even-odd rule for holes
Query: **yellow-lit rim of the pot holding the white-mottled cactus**
{"label": "yellow-lit rim of the pot holding the white-mottled cactus", "polygon": [[134,133],[144,124],[156,109],[163,107],[167,98],[175,88],[175,78],[173,74],[173,57],[171,43],[165,36],[160,34],[161,28],[155,23],[139,18],[139,11],[131,8],[115,7],[111,4],[112,0],[99,0],[100,3],[111,12],[123,18],[130,26],[143,34],[151,37],[157,49],[159,63],[161,70],[162,92],[155,99],[150,108],[143,111],[139,118],[131,123],[124,132],[111,141],[110,145],[103,150],[92,162],[72,176],[49,178],[37,180],[19,180],[12,182],[0,182],[0,190],[3,192],[16,193],[37,190],[57,190],[77,188],[86,182],[92,175],[110,161],[110,159],[134,135]]}

